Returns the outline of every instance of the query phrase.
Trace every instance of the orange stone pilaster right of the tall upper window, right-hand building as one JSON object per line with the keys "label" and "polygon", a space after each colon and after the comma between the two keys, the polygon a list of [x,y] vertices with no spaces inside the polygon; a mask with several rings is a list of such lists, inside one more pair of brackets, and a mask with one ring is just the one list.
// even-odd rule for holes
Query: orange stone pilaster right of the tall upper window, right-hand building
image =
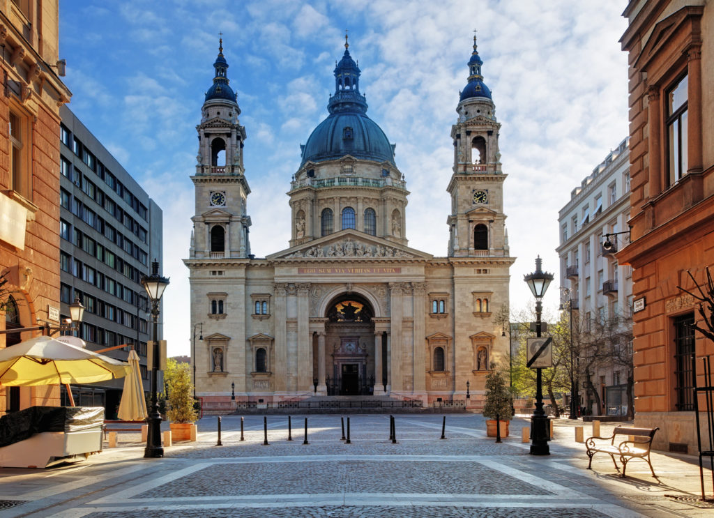
{"label": "orange stone pilaster right of the tall upper window, right-hand building", "polygon": [[687,54],[687,172],[702,172],[702,51],[690,46]]}

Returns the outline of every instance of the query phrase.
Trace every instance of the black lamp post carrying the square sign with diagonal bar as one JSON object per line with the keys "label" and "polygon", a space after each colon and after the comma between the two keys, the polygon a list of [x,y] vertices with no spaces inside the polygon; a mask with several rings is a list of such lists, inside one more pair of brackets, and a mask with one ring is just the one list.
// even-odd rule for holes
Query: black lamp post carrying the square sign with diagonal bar
{"label": "black lamp post carrying the square sign with diagonal bar", "polygon": [[[540,313],[543,311],[543,295],[548,290],[553,274],[540,269],[543,260],[538,255],[535,259],[535,272],[523,275],[528,288],[535,297],[535,336],[540,338]],[[535,369],[535,410],[531,415],[531,455],[550,455],[550,432],[548,430],[548,417],[543,412],[543,376],[541,367]]]}

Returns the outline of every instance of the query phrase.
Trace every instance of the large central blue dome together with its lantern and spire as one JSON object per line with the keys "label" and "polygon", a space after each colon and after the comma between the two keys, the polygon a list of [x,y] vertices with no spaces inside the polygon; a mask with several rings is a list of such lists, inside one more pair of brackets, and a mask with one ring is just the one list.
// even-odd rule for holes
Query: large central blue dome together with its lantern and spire
{"label": "large central blue dome together with its lantern and spire", "polygon": [[345,54],[335,66],[335,94],[327,106],[330,115],[301,146],[301,167],[307,161],[334,160],[345,155],[396,166],[394,146],[382,128],[366,115],[367,101],[359,91],[360,73],[345,41]]}

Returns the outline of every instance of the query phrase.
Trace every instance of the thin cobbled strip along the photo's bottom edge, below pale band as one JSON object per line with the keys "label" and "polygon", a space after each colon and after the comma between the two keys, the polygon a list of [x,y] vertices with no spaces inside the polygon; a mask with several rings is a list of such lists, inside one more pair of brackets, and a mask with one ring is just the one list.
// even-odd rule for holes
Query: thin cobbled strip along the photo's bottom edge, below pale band
{"label": "thin cobbled strip along the photo's bottom edge, below pale band", "polygon": [[[96,512],[86,518],[167,518],[166,512]],[[593,509],[507,509],[463,507],[276,507],[181,511],[181,518],[606,518]],[[608,517],[609,518],[609,517]]]}

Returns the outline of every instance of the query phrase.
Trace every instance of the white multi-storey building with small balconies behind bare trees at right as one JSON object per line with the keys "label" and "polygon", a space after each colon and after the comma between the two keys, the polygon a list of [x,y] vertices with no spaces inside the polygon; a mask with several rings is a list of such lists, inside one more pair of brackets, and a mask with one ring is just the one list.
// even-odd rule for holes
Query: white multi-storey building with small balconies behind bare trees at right
{"label": "white multi-storey building with small balconies behind bare trees at right", "polygon": [[631,404],[632,269],[615,258],[629,241],[628,140],[571,191],[558,213],[560,286],[568,290],[563,300],[566,308],[570,301],[575,354],[584,356],[579,405],[593,415],[626,415]]}

